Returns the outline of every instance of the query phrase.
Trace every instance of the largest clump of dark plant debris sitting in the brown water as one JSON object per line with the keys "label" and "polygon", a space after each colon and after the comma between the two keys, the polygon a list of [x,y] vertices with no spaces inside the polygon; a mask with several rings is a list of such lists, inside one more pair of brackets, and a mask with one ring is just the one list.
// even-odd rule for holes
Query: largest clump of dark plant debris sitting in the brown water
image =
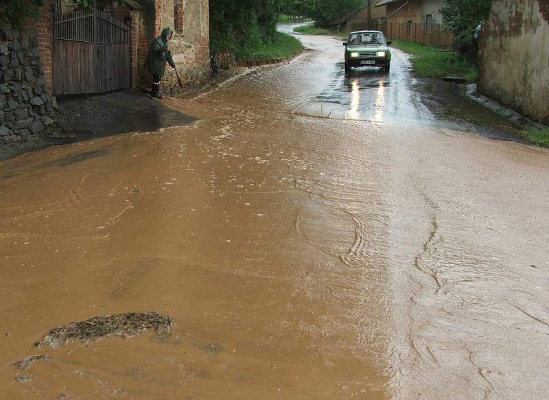
{"label": "largest clump of dark plant debris sitting in the brown water", "polygon": [[110,335],[128,338],[144,331],[156,331],[160,337],[165,337],[170,334],[173,326],[172,318],[157,312],[95,316],[89,320],[51,329],[45,338],[38,342],[38,346],[58,347],[69,340],[89,342]]}

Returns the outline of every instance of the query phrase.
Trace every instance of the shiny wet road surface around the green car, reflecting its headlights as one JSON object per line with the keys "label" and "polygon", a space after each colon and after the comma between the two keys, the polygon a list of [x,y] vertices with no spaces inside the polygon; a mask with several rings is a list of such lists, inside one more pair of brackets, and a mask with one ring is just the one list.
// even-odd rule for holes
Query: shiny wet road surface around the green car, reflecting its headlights
{"label": "shiny wet road surface around the green car, reflecting its headlights", "polygon": [[[282,31],[289,33],[289,27]],[[314,80],[307,80],[304,84],[310,91],[305,93],[300,85],[301,90],[289,97],[294,99],[292,107],[297,115],[375,122],[385,118],[439,123],[421,104],[419,93],[414,91],[414,78],[409,73],[411,64],[403,52],[391,49],[390,73],[377,67],[355,68],[345,73],[341,41],[313,36],[300,38],[307,47],[322,54],[316,54],[309,66]],[[315,97],[310,97],[311,92]]]}

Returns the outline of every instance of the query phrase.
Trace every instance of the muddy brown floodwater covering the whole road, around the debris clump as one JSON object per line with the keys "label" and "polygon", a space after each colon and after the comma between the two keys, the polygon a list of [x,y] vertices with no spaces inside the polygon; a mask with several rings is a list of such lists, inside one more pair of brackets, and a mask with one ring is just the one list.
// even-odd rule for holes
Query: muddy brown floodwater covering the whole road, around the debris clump
{"label": "muddy brown floodwater covering the whole road, around the debris clump", "polygon": [[[165,100],[194,125],[0,163],[0,397],[546,397],[549,153],[303,41]],[[150,311],[170,336],[33,346]]]}

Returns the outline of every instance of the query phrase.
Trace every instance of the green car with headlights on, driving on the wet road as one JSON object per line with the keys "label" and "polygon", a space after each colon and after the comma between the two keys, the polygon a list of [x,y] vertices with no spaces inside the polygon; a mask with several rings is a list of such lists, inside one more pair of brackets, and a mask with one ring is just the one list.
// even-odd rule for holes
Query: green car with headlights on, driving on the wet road
{"label": "green car with headlights on, driving on the wet road", "polygon": [[351,32],[345,46],[345,72],[353,67],[382,67],[390,70],[390,42],[379,31]]}

